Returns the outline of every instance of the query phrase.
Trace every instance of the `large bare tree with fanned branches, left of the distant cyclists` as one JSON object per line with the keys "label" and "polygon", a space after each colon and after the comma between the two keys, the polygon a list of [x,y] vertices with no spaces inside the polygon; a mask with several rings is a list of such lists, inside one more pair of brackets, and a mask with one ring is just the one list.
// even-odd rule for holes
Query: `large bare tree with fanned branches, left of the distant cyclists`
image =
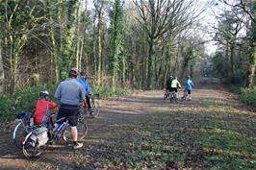
{"label": "large bare tree with fanned branches, left of the distant cyclists", "polygon": [[167,32],[182,32],[191,25],[199,13],[195,12],[192,0],[133,0],[141,23],[147,33],[148,75],[147,88],[153,87],[155,73],[155,47],[160,37]]}

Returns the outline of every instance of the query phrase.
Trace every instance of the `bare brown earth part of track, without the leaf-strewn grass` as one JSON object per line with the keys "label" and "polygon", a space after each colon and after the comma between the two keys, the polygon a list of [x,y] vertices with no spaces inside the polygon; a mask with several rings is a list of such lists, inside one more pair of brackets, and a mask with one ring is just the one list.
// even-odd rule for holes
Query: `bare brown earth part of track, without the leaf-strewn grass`
{"label": "bare brown earth part of track, without the leaf-strewn grass", "polygon": [[[254,112],[244,109],[238,97],[218,83],[204,82],[196,87],[191,102],[178,104],[164,101],[163,91],[141,91],[129,97],[100,100],[100,115],[86,120],[89,133],[83,141],[85,147],[78,151],[63,144],[49,147],[39,158],[24,158],[13,145],[14,122],[1,125],[0,169],[108,169],[105,160],[112,161],[118,155],[120,161],[124,161],[124,154],[115,148],[124,140],[129,140],[129,135],[140,137],[133,125],[140,124],[141,120],[151,114],[166,113],[178,119],[179,116],[187,116],[181,115],[186,109],[194,111],[195,115],[207,111],[210,106],[225,105],[240,109],[246,116],[256,120]],[[188,116],[193,118],[192,114]],[[116,169],[125,169],[125,165],[119,163]]]}

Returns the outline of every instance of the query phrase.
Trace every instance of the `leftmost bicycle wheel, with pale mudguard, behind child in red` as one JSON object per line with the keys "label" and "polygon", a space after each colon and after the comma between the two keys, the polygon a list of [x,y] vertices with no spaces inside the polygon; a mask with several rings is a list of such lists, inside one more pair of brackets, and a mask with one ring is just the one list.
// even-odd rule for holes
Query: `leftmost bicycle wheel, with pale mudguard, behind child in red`
{"label": "leftmost bicycle wheel, with pale mudguard, behind child in red", "polygon": [[28,127],[23,122],[19,122],[13,130],[13,142],[18,149],[22,149],[22,142],[28,134]]}

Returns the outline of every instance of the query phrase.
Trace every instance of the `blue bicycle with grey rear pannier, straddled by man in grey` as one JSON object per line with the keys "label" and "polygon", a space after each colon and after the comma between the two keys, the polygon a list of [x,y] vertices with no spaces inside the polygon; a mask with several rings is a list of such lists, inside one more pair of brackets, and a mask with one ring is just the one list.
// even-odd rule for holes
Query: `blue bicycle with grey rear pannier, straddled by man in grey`
{"label": "blue bicycle with grey rear pannier, straddled by man in grey", "polygon": [[[72,141],[70,126],[66,117],[56,120],[56,123],[59,122],[62,122],[62,124],[59,125],[58,129],[53,134],[50,133],[50,129],[41,126],[38,126],[37,129],[27,134],[22,142],[23,155],[26,158],[38,157],[52,141],[58,142],[61,136],[63,136],[65,142]],[[78,140],[82,140],[88,133],[88,127],[84,121],[79,119],[77,129]]]}

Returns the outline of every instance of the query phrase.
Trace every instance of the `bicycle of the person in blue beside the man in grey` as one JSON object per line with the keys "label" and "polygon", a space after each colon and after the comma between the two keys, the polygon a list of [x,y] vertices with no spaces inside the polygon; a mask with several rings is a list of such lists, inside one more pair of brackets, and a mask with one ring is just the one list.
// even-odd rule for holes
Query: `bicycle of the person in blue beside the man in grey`
{"label": "bicycle of the person in blue beside the man in grey", "polygon": [[99,103],[94,99],[94,97],[99,97],[99,94],[93,94],[90,97],[90,109],[88,104],[85,102],[83,105],[80,106],[79,112],[81,114],[82,119],[84,118],[84,115],[90,116],[92,118],[98,116],[99,114]]}

